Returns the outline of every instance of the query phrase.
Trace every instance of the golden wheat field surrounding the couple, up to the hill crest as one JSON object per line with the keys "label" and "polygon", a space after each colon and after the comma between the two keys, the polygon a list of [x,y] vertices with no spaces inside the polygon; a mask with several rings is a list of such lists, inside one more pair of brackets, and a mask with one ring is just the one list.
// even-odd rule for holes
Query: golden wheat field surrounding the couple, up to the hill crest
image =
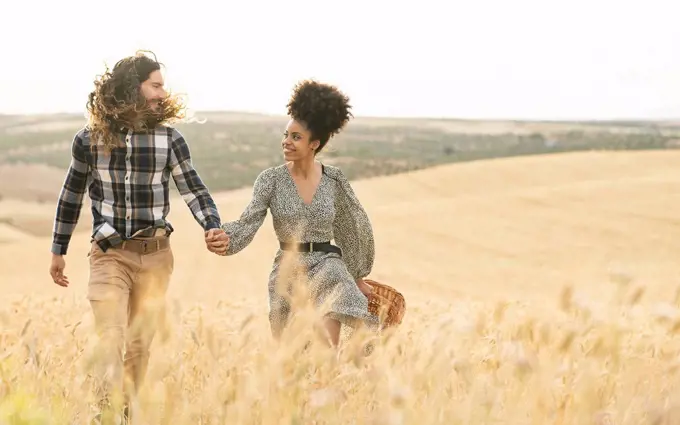
{"label": "golden wheat field surrounding the couple, up to the hill crest", "polygon": [[[136,423],[680,423],[678,163],[673,151],[586,152],[354,182],[376,232],[371,277],[407,312],[338,352],[304,348],[311,315],[271,340],[269,217],[222,258],[176,199],[167,322]],[[223,219],[249,196],[215,195]],[[89,226],[86,209],[68,289],[49,278],[48,238],[0,244],[0,424],[88,423]]]}

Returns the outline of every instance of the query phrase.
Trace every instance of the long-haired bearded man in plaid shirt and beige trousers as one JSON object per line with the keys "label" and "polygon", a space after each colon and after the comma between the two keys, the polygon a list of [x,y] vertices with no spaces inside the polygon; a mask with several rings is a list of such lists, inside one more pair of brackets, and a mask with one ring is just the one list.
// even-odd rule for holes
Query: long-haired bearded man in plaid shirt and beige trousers
{"label": "long-haired bearded man in plaid shirt and beige trousers", "polygon": [[123,402],[127,415],[144,380],[174,267],[173,228],[166,219],[170,177],[204,229],[207,248],[218,255],[225,250],[214,242],[227,236],[187,142],[166,125],[182,118],[182,105],[166,93],[160,68],[155,57],[138,52],[95,81],[88,124],[74,137],[56,208],[50,275],[67,287],[64,256],[88,190],[93,229],[87,297],[99,337],[98,421]]}

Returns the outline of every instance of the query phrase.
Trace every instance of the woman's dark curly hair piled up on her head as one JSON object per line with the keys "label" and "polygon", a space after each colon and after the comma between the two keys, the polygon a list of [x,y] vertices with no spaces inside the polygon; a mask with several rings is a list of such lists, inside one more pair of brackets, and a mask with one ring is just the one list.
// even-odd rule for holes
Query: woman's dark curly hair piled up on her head
{"label": "woman's dark curly hair piled up on her head", "polygon": [[315,153],[353,118],[349,97],[332,85],[314,80],[298,82],[286,106],[288,115],[312,133],[311,140],[319,140]]}

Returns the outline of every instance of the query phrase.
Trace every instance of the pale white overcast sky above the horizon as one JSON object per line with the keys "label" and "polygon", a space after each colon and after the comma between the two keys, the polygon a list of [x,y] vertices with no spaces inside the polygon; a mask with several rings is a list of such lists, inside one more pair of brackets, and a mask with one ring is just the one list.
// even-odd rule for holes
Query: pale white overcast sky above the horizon
{"label": "pale white overcast sky above the horizon", "polygon": [[82,113],[104,63],[141,48],[197,110],[285,113],[293,84],[314,77],[356,115],[680,118],[671,1],[361,3],[13,1],[0,113]]}

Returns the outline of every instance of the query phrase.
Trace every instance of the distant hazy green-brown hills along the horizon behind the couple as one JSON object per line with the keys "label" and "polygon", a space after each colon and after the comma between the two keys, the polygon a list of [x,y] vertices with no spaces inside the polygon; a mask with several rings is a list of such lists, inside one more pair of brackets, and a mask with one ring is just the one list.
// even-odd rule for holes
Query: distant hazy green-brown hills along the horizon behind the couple
{"label": "distant hazy green-brown hills along the horizon behind the couple", "polygon": [[[281,161],[287,118],[200,112],[177,125],[193,162],[213,191],[249,187]],[[0,198],[52,202],[70,161],[77,115],[0,117]],[[320,158],[351,179],[400,174],[437,165],[499,157],[587,150],[680,147],[679,127],[666,122],[522,122],[357,117]]]}

